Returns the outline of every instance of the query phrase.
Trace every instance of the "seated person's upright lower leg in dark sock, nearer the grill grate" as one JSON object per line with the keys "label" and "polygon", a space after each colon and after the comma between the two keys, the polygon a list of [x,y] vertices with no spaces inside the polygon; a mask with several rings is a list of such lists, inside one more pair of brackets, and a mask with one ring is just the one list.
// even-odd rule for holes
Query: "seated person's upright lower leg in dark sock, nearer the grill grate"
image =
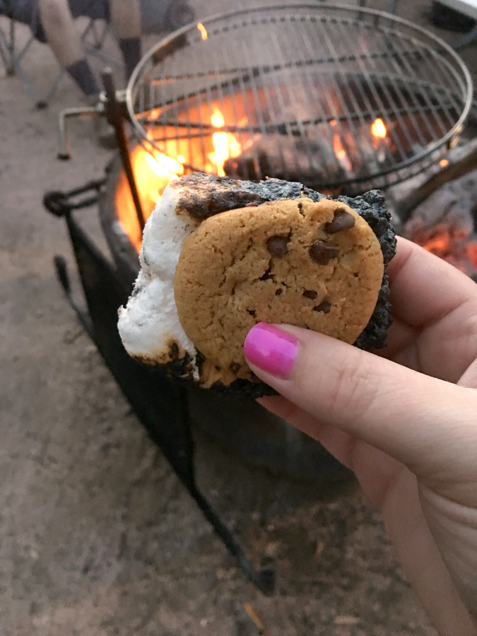
{"label": "seated person's upright lower leg in dark sock, nearer the grill grate", "polygon": [[109,0],[111,23],[119,38],[126,78],[141,59],[141,7],[139,0]]}

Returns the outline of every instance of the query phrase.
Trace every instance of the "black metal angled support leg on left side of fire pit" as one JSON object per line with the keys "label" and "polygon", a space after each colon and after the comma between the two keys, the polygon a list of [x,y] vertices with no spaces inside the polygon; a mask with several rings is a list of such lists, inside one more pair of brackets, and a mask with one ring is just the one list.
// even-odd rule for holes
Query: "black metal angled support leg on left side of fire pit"
{"label": "black metal angled support leg on left side of fire pit", "polygon": [[[88,313],[81,310],[73,298],[66,261],[63,257],[55,257],[59,281],[71,307],[95,342],[139,420],[163,450],[180,481],[189,490],[225,547],[237,559],[242,572],[264,594],[270,594],[275,586],[273,568],[265,565],[258,571],[254,570],[228,527],[197,488],[194,442],[185,389],[153,372],[146,365],[132,360],[124,350],[117,331],[117,310],[128,300],[131,290],[124,288],[110,263],[74,220],[71,211],[68,211],[66,200],[67,196],[63,195],[62,216],[66,218],[68,225]],[[54,206],[49,206],[50,211],[52,207]],[[53,212],[61,216],[58,208],[54,208]]]}

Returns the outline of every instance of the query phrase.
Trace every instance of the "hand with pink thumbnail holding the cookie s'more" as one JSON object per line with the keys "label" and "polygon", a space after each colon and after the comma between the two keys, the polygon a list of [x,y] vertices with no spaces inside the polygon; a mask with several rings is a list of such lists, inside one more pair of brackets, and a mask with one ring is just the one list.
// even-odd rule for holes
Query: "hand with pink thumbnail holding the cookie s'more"
{"label": "hand with pink thumbnail holding the cookie s'more", "polygon": [[368,353],[293,326],[255,326],[261,404],[328,449],[382,512],[442,636],[477,635],[477,285],[399,239],[394,324]]}

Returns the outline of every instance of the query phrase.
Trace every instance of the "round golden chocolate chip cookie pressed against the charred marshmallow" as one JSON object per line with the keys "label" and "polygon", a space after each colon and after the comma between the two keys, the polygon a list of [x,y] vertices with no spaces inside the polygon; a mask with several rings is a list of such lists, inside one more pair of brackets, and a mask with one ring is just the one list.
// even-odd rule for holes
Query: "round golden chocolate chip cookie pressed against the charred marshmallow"
{"label": "round golden chocolate chip cookie pressed against the charred marshmallow", "polygon": [[273,201],[204,220],[185,241],[174,295],[182,328],[223,379],[251,380],[243,353],[258,322],[354,343],[375,310],[379,241],[346,204]]}

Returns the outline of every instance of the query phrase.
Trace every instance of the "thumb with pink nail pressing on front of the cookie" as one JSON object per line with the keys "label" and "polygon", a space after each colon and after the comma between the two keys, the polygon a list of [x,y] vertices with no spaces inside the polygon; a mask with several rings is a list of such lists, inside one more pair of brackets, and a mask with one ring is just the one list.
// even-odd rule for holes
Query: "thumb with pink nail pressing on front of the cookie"
{"label": "thumb with pink nail pressing on front of the cookie", "polygon": [[293,404],[414,473],[475,471],[475,389],[294,326],[257,324],[244,351],[252,371]]}

